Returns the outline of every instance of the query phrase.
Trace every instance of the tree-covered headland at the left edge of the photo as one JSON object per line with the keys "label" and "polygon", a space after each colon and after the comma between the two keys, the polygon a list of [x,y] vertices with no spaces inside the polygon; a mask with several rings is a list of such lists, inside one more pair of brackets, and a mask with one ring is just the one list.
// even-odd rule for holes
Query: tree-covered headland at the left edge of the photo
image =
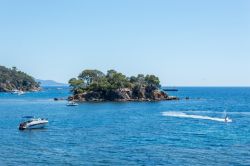
{"label": "tree-covered headland at the left edge of the photo", "polygon": [[0,92],[19,91],[38,91],[39,83],[28,74],[17,70],[0,66]]}

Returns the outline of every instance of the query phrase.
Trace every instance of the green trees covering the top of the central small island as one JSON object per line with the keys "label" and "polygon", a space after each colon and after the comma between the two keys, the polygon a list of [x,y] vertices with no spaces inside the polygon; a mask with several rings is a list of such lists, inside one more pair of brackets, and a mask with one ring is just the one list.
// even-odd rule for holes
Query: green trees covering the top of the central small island
{"label": "green trees covering the top of the central small island", "polygon": [[86,93],[90,91],[112,91],[124,88],[156,90],[160,88],[159,78],[154,75],[139,74],[127,77],[115,70],[107,71],[105,75],[98,70],[84,70],[78,78],[69,80],[73,94]]}

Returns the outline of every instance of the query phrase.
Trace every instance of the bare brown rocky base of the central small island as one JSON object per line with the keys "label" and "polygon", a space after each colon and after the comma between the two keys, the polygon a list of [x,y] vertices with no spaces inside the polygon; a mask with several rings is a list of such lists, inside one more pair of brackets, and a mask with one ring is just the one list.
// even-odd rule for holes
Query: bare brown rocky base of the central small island
{"label": "bare brown rocky base of the central small island", "polygon": [[165,92],[153,90],[147,92],[142,88],[139,92],[133,89],[123,88],[110,91],[92,91],[88,93],[76,94],[69,97],[70,101],[160,101],[178,100],[177,97],[168,96]]}

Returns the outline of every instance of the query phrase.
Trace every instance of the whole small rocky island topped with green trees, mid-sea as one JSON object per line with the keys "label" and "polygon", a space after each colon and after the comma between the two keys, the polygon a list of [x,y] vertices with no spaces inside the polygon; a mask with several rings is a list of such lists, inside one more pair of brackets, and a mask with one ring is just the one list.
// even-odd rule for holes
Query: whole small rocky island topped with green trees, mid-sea
{"label": "whole small rocky island topped with green trees, mid-sea", "polygon": [[70,101],[160,101],[178,100],[161,91],[155,75],[139,74],[127,77],[115,70],[104,74],[98,70],[84,70],[78,78],[69,80]]}

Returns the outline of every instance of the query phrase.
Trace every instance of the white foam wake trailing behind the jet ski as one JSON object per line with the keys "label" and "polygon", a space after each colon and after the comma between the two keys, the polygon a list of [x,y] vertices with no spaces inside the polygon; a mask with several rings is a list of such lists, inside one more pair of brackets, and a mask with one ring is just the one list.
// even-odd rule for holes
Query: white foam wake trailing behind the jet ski
{"label": "white foam wake trailing behind the jet ski", "polygon": [[[189,115],[183,112],[163,112],[163,116],[179,117],[179,118],[192,118],[192,119],[204,119],[204,120],[213,120],[218,122],[225,122],[224,118],[215,118],[202,115]],[[232,119],[228,119],[227,122],[232,122]]]}

